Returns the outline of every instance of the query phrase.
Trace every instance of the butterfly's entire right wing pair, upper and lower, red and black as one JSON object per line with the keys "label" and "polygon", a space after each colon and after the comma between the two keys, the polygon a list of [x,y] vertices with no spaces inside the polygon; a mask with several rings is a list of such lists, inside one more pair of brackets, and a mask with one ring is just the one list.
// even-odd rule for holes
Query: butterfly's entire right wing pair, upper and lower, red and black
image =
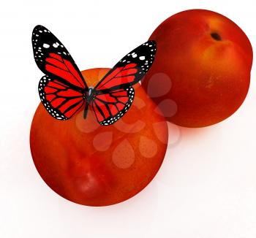
{"label": "butterfly's entire right wing pair, upper and lower, red and black", "polygon": [[132,85],[150,69],[156,50],[156,42],[145,42],[118,61],[96,85],[92,107],[101,125],[115,123],[129,110],[135,96]]}

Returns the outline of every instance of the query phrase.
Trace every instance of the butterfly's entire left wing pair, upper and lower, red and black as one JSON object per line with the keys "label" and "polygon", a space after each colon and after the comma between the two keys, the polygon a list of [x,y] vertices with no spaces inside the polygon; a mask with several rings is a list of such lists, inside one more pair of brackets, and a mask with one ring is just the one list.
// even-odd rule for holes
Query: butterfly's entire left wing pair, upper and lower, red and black
{"label": "butterfly's entire left wing pair, upper and lower, red and black", "polygon": [[44,26],[32,33],[34,59],[45,76],[39,96],[50,115],[67,120],[83,106],[88,86],[66,47]]}

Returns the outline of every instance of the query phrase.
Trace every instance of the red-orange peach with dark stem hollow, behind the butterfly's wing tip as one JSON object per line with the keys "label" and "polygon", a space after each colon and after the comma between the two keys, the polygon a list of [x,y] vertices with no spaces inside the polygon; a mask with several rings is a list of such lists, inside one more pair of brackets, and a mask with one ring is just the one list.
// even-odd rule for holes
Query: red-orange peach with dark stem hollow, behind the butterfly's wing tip
{"label": "red-orange peach with dark stem hollow, behind the butterfly's wing tip", "polygon": [[149,39],[157,55],[143,88],[167,120],[210,126],[238,110],[249,89],[252,46],[236,23],[192,9],[167,18]]}

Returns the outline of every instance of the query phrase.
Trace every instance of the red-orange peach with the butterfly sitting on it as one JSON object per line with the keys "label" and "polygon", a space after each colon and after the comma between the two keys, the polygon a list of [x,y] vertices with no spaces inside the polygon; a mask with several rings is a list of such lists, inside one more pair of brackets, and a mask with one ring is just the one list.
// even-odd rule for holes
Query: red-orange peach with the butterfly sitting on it
{"label": "red-orange peach with the butterfly sitting on it", "polygon": [[[109,69],[83,71],[88,85]],[[42,179],[65,199],[105,206],[135,196],[151,182],[165,157],[167,124],[141,86],[123,118],[100,126],[83,109],[69,120],[52,118],[39,104],[31,124],[31,155]]]}

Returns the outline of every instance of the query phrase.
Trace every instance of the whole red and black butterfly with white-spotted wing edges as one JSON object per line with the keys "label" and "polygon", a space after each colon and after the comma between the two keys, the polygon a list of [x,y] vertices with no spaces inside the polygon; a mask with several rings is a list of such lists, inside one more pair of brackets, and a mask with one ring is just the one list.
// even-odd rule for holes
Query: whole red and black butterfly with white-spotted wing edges
{"label": "whole red and black butterfly with white-spotted wing edges", "polygon": [[108,126],[129,110],[135,97],[132,85],[139,82],[153,64],[157,44],[148,41],[124,56],[98,82],[88,86],[66,47],[44,26],[32,32],[34,60],[45,74],[39,80],[39,97],[45,109],[59,120],[72,118],[84,107],[86,118],[92,107],[97,121]]}

